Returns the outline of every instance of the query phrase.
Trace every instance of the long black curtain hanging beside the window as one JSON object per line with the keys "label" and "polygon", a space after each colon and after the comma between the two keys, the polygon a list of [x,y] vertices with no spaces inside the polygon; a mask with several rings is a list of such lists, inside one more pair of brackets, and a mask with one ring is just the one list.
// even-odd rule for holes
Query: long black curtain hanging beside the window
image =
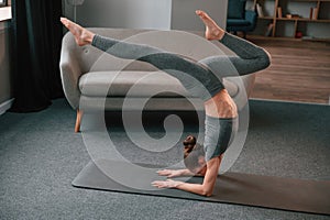
{"label": "long black curtain hanging beside the window", "polygon": [[47,108],[63,97],[62,0],[12,0],[13,112]]}

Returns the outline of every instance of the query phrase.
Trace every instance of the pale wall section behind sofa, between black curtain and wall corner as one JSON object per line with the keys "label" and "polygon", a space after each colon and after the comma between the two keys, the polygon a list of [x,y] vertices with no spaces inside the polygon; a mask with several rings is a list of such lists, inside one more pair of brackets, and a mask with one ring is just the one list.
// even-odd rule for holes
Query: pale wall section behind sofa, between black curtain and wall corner
{"label": "pale wall section behind sofa, between black curtain and wall corner", "polygon": [[[169,29],[172,0],[85,0],[76,9],[84,26]],[[66,1],[65,15],[75,20]]]}

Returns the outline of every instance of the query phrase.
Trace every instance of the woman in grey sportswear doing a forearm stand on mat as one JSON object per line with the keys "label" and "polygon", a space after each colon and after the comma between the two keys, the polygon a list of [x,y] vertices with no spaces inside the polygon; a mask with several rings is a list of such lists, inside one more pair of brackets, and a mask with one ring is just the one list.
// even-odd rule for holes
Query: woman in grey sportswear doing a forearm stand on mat
{"label": "woman in grey sportswear doing a forearm stand on mat", "polygon": [[[221,80],[218,79],[216,72],[221,69],[223,61],[229,58],[239,75],[251,74],[266,68],[270,65],[270,55],[263,48],[227,33],[204,11],[198,10],[196,14],[206,25],[206,38],[219,41],[233,51],[237,56],[212,56],[196,63],[156,47],[97,35],[65,18],[62,18],[61,21],[73,33],[79,46],[91,44],[120,58],[150,63],[176,77],[187,91],[204,100],[206,110],[204,145],[198,144],[195,136],[187,136],[184,141],[184,162],[187,169],[160,170],[158,175],[167,176],[168,179],[153,182],[152,185],[158,188],[177,188],[202,196],[211,196],[223,153],[230,145],[238,128],[237,106]],[[113,45],[116,45],[116,50],[110,50]],[[189,74],[190,77],[183,73]],[[221,73],[221,77],[224,77],[226,74],[232,73]],[[197,82],[191,80],[191,77]],[[201,175],[205,178],[202,184],[169,179],[186,175]]]}

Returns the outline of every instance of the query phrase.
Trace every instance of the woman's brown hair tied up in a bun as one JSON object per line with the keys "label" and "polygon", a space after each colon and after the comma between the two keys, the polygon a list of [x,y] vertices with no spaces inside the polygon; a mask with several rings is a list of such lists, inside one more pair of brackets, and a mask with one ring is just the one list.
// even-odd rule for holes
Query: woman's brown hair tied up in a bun
{"label": "woman's brown hair tied up in a bun", "polygon": [[198,160],[200,156],[205,156],[204,147],[196,142],[196,138],[188,135],[184,143],[184,163],[186,167],[193,172],[195,168],[200,167]]}

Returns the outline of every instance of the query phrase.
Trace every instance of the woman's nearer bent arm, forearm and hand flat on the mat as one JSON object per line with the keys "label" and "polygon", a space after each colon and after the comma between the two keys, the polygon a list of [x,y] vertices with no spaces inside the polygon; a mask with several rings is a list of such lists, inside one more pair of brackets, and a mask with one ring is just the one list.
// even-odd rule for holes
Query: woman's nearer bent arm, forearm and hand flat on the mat
{"label": "woman's nearer bent arm, forearm and hand flat on the mat", "polygon": [[207,172],[202,184],[189,184],[167,179],[165,182],[153,182],[152,185],[158,188],[176,188],[201,196],[211,196],[215,189],[218,170],[221,164],[221,156],[211,158],[207,163]]}

